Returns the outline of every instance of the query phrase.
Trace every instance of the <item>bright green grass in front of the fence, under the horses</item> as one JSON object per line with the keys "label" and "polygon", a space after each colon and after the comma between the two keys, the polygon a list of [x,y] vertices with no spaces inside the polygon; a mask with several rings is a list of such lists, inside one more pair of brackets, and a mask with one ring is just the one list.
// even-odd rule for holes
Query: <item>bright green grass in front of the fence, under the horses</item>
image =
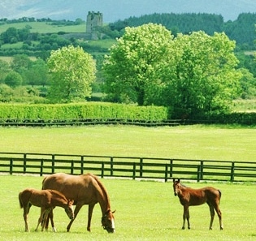
{"label": "bright green grass in front of the fence, under the horses", "polygon": [[32,207],[28,215],[31,232],[24,232],[23,210],[19,207],[18,193],[26,187],[41,188],[42,177],[0,176],[2,197],[0,209],[2,222],[0,240],[254,240],[253,184],[185,183],[190,187],[214,186],[222,191],[220,209],[224,230],[219,230],[215,215],[213,230],[208,230],[210,212],[206,204],[191,207],[191,230],[181,230],[183,208],[173,195],[172,183],[139,182],[122,179],[102,179],[111,198],[115,213],[115,234],[107,234],[101,227],[101,211],[97,204],[93,212],[92,232],[86,230],[87,206],[84,206],[71,232],[66,232],[69,222],[61,208],[54,210],[58,232],[35,232],[40,209]]}

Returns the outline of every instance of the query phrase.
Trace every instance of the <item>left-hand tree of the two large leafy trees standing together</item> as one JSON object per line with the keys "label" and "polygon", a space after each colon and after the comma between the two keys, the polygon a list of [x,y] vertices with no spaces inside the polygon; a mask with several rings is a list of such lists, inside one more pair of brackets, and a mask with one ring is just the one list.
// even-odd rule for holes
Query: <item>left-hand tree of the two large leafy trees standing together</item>
{"label": "left-hand tree of the two large leafy trees standing together", "polygon": [[158,99],[175,56],[171,54],[172,39],[171,32],[158,24],[125,28],[103,66],[105,90],[112,100],[149,105]]}

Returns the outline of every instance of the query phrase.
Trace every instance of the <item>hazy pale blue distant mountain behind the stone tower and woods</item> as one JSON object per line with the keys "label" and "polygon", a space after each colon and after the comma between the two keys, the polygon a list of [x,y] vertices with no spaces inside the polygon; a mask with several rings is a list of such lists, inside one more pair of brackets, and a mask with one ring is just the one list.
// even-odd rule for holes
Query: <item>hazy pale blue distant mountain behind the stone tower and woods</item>
{"label": "hazy pale blue distant mountain behind the stone tower and woods", "polygon": [[240,13],[255,13],[255,0],[1,0],[0,19],[86,19],[88,11],[100,11],[103,22],[153,13],[213,13],[225,21]]}

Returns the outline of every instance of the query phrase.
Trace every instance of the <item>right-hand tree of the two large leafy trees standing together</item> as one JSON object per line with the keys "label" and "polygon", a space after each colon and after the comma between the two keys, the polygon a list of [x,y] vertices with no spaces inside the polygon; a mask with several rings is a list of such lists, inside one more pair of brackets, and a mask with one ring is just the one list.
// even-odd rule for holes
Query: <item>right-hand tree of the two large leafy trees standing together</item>
{"label": "right-hand tree of the two large leafy trees standing together", "polygon": [[167,83],[167,105],[184,114],[226,110],[241,94],[241,71],[236,70],[235,42],[224,33],[179,34],[175,39],[179,58]]}

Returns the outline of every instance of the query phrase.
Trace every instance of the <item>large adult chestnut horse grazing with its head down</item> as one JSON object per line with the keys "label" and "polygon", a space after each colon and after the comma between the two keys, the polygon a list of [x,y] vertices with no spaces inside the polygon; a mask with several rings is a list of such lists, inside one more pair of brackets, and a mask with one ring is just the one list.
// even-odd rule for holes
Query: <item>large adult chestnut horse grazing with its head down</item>
{"label": "large adult chestnut horse grazing with its head down", "polygon": [[[102,209],[102,226],[108,233],[115,233],[114,215],[111,212],[111,203],[106,188],[101,181],[93,174],[51,174],[42,182],[42,189],[54,189],[62,192],[67,198],[74,200],[76,204],[75,218],[83,205],[88,204],[88,224],[87,230],[91,230],[91,219],[94,205],[99,203]],[[53,212],[49,213],[50,221],[53,222]],[[67,232],[72,226],[72,222],[67,226]],[[48,225],[48,223],[47,223]]]}

